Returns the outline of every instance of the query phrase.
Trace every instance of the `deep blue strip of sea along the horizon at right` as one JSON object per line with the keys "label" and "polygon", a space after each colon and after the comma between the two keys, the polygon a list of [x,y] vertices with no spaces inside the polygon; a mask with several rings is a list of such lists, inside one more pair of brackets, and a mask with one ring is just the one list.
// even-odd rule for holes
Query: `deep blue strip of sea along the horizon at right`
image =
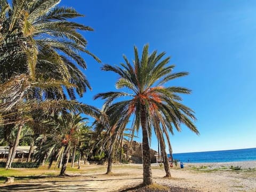
{"label": "deep blue strip of sea along the horizon at right", "polygon": [[256,161],[256,148],[178,153],[173,154],[173,159],[189,163]]}

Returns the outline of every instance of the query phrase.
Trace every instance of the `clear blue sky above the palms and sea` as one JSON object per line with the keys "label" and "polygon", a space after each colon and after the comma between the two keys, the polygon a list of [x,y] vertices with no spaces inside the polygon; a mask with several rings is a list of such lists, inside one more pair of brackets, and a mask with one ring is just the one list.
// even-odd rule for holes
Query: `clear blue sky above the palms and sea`
{"label": "clear blue sky above the palms and sea", "polygon": [[[88,49],[103,63],[117,65],[125,54],[133,59],[149,43],[150,51],[165,51],[176,71],[189,76],[173,82],[193,94],[183,97],[193,108],[198,137],[183,127],[171,137],[174,153],[256,147],[256,1],[62,0],[86,17]],[[93,101],[99,92],[115,90],[117,77],[84,55],[85,75],[93,91],[79,101]],[[140,134],[139,134],[140,136]],[[139,139],[141,140],[141,139]],[[153,138],[151,148],[157,149]]]}

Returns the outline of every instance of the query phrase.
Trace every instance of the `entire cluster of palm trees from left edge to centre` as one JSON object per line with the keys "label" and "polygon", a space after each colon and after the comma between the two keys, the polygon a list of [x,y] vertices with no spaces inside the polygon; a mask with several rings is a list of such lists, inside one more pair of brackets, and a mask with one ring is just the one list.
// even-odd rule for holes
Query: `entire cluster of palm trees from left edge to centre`
{"label": "entire cluster of palm trees from left edge to centre", "polygon": [[[181,103],[181,94],[191,91],[170,83],[188,73],[173,73],[174,65],[168,65],[170,58],[164,58],[164,52],[149,53],[145,45],[140,58],[134,47],[132,62],[124,56],[125,63],[102,67],[119,76],[116,88],[121,91],[95,95],[94,99],[106,101],[101,110],[79,103],[76,98],[91,89],[80,53],[100,60],[86,49],[87,41],[78,32],[93,29],[70,21],[83,15],[59,3],[0,0],[0,127],[9,145],[6,168],[11,167],[22,131],[29,129],[29,145],[37,145],[39,163],[48,159],[51,166],[54,160],[59,161],[60,174],[65,174],[71,149],[73,157],[76,150],[84,156],[96,146],[99,151],[107,150],[111,172],[117,143],[122,147],[126,126],[133,117],[128,136],[131,141],[134,133],[142,130],[143,183],[152,183],[149,143],[153,131],[164,157],[166,177],[170,177],[165,146],[167,143],[171,154],[169,133],[181,131],[184,124],[198,134],[194,111]],[[94,132],[80,114],[95,118]],[[98,134],[98,138],[89,145],[90,134]]]}

